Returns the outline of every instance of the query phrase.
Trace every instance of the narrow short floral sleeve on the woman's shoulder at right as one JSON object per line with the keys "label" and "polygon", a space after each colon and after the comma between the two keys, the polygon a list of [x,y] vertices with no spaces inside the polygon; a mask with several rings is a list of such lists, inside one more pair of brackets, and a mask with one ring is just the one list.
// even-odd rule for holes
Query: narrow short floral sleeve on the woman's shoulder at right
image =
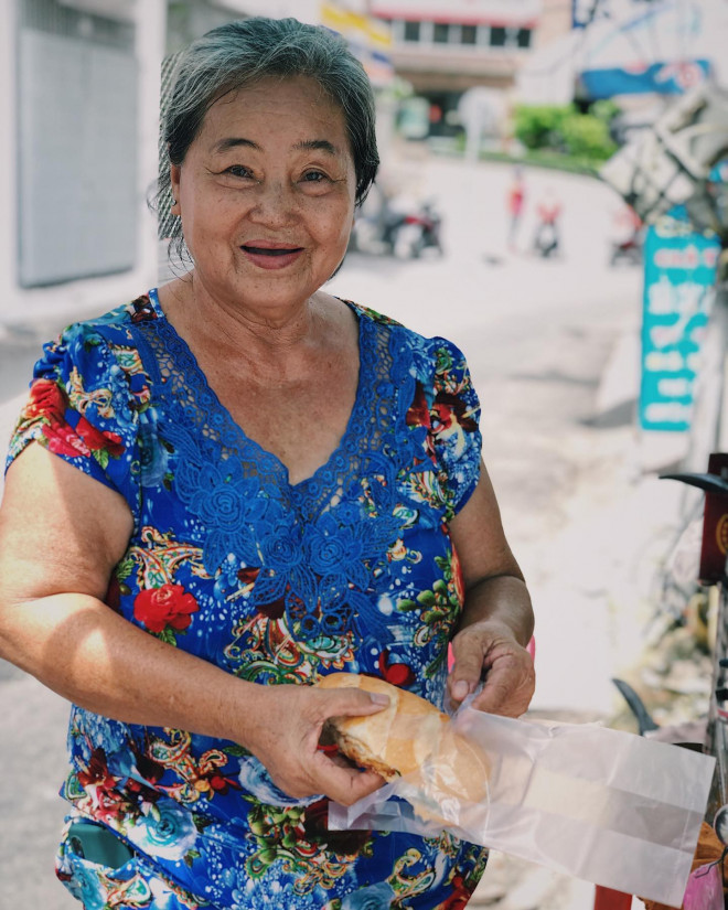
{"label": "narrow short floral sleeve on the woman's shoulder at right", "polygon": [[480,402],[462,351],[441,338],[432,339],[432,345],[435,372],[429,432],[445,475],[449,511],[457,514],[480,479]]}

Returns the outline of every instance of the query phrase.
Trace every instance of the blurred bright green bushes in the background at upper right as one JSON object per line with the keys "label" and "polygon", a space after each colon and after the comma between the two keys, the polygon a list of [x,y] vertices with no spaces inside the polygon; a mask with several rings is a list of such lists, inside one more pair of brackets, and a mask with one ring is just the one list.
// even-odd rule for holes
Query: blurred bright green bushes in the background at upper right
{"label": "blurred bright green bushes in the background at upper right", "polygon": [[606,161],[617,150],[609,136],[609,124],[618,111],[611,100],[597,101],[589,114],[580,114],[574,105],[520,105],[514,131],[531,151]]}

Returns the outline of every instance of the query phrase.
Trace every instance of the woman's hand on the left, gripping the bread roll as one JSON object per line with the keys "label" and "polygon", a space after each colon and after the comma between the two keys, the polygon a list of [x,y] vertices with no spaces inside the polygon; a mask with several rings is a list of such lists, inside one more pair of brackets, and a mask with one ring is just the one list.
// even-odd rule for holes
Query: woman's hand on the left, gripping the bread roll
{"label": "woman's hand on the left, gripping the bread roll", "polygon": [[[319,740],[330,717],[376,714],[388,704],[385,695],[306,685],[259,688],[254,728],[247,727],[239,741],[263,762],[280,790],[296,799],[323,793],[351,805],[383,785],[373,771],[338,763],[319,748]],[[249,718],[249,708],[246,714]]]}

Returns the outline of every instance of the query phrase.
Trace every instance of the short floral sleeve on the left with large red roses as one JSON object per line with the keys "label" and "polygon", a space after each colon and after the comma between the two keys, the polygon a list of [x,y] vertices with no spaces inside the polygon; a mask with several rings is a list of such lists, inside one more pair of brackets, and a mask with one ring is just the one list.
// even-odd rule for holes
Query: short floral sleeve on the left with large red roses
{"label": "short floral sleeve on the left with large red roses", "polygon": [[30,442],[39,442],[120,493],[136,522],[138,407],[132,371],[120,350],[88,323],[71,325],[57,341],[43,346],[10,439],[6,470]]}

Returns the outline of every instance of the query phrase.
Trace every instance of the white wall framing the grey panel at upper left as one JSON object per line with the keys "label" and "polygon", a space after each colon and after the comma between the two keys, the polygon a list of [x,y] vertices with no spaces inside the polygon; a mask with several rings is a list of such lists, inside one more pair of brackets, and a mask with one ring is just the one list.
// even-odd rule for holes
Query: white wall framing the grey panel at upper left
{"label": "white wall framing the grey panel at upper left", "polygon": [[[15,0],[20,2],[20,0]],[[46,317],[68,314],[69,319],[90,315],[136,297],[157,280],[158,247],[156,221],[147,208],[147,191],[157,176],[159,73],[164,52],[165,0],[118,0],[125,19],[136,25],[136,55],[139,63],[139,124],[137,148],[138,185],[135,205],[138,213],[138,249],[135,267],[126,272],[68,281],[44,288],[21,288],[18,282],[18,137],[17,137],[17,50],[15,2],[0,17],[0,325]],[[115,0],[109,0],[113,8]],[[109,174],[113,180],[113,174]]]}

